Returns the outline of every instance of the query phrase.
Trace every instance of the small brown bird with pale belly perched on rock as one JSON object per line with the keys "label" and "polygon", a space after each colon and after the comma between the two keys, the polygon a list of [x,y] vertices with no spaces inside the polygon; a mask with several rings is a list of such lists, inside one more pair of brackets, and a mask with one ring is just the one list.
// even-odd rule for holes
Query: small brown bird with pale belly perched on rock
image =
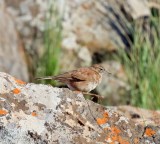
{"label": "small brown bird with pale belly perched on rock", "polygon": [[73,91],[90,92],[102,81],[103,74],[107,72],[100,64],[90,67],[81,67],[76,70],[65,72],[57,76],[38,77],[36,80],[52,79],[68,86]]}

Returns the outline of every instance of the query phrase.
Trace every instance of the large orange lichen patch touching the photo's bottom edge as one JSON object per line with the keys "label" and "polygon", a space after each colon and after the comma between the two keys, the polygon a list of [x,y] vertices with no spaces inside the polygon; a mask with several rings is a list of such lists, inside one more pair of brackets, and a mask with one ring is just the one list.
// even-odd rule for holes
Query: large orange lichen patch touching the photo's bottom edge
{"label": "large orange lichen patch touching the photo's bottom edge", "polygon": [[111,140],[110,144],[114,144],[115,142],[119,142],[120,144],[129,144],[129,142],[125,139],[123,139],[119,134],[121,133],[121,130],[117,127],[113,126],[110,129],[110,132],[108,133],[106,140]]}

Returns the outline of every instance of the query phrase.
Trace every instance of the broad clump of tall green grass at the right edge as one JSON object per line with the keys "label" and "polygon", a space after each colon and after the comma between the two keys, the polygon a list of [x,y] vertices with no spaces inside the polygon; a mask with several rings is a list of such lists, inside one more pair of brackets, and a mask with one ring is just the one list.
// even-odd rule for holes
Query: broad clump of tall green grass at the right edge
{"label": "broad clump of tall green grass at the right edge", "polygon": [[147,30],[138,22],[133,44],[127,53],[120,51],[130,84],[130,102],[143,108],[160,109],[160,18],[155,11]]}

